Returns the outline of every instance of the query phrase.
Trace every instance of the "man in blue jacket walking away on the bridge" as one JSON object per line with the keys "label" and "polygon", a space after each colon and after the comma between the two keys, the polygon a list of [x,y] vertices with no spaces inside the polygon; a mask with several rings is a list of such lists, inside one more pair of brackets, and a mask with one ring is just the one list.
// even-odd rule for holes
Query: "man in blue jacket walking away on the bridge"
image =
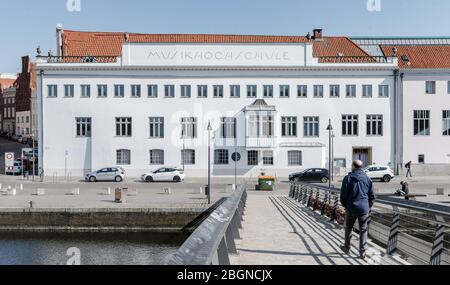
{"label": "man in blue jacket walking away on the bridge", "polygon": [[375,202],[372,180],[362,170],[363,162],[356,160],[352,163],[352,172],[342,182],[341,204],[345,207],[345,244],[341,246],[342,251],[350,252],[350,241],[352,239],[353,226],[359,223],[359,254],[360,258],[366,257],[367,224],[370,209]]}

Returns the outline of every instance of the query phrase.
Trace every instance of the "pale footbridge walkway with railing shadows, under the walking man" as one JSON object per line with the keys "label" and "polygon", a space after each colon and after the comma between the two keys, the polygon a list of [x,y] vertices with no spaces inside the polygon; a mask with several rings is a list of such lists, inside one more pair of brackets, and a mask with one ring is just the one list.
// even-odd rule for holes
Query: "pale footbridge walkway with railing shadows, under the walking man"
{"label": "pale footbridge walkway with railing shadows, under the walking man", "polygon": [[406,265],[369,242],[366,260],[358,258],[354,235],[350,255],[343,254],[342,226],[291,198],[249,192],[241,240],[233,265]]}

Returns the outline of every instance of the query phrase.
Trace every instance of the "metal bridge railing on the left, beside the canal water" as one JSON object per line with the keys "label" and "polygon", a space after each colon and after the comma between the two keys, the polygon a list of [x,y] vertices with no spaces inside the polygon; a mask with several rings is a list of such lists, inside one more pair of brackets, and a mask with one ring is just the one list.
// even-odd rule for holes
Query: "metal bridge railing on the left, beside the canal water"
{"label": "metal bridge railing on the left, beside the canal water", "polygon": [[235,239],[240,238],[246,201],[247,191],[240,186],[197,227],[166,263],[229,265],[229,254],[237,253]]}

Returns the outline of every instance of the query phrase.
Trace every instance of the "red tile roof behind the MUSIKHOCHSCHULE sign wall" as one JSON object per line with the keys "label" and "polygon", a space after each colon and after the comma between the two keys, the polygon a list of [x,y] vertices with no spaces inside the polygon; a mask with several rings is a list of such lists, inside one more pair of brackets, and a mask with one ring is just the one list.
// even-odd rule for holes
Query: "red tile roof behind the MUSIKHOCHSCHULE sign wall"
{"label": "red tile roof behind the MUSIKHOCHSCHULE sign wall", "polygon": [[[121,56],[125,33],[64,30],[65,56]],[[306,43],[304,36],[208,35],[208,34],[129,34],[133,43]],[[315,57],[368,56],[346,37],[324,37],[312,41]],[[328,60],[329,62],[330,60]]]}

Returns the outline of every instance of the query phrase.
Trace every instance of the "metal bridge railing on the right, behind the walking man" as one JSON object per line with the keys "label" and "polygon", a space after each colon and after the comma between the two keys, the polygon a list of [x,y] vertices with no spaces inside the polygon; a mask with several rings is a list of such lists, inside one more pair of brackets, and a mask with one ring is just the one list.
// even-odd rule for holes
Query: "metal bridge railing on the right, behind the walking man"
{"label": "metal bridge railing on the right, behind the walking man", "polygon": [[[338,189],[292,183],[289,197],[344,224]],[[387,254],[397,253],[410,263],[449,265],[449,221],[450,207],[380,196],[371,211],[369,236]]]}

